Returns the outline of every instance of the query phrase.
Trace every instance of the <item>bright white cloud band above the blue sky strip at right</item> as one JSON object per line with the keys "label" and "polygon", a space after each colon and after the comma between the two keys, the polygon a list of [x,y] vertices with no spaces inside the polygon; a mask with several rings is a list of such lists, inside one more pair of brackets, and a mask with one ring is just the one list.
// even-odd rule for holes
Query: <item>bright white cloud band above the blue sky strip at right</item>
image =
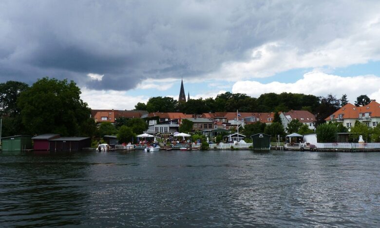
{"label": "bright white cloud band above the blue sky strip at right", "polygon": [[[343,38],[335,37],[307,49],[302,44],[287,43],[285,39],[266,42],[251,49],[245,61],[225,62],[207,76],[227,81],[265,78],[296,68],[345,67],[380,60],[380,17],[363,20]],[[323,34],[322,34],[323,36]]]}

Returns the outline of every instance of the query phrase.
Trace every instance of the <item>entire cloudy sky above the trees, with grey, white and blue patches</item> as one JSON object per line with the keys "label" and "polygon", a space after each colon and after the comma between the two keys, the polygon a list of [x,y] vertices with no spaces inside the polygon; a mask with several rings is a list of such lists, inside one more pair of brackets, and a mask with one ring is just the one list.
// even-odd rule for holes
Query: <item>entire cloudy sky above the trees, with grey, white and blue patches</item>
{"label": "entire cloudy sky above the trees, with grey, white and blue patches", "polygon": [[93,109],[230,91],[380,100],[380,1],[1,0],[0,82],[76,81]]}

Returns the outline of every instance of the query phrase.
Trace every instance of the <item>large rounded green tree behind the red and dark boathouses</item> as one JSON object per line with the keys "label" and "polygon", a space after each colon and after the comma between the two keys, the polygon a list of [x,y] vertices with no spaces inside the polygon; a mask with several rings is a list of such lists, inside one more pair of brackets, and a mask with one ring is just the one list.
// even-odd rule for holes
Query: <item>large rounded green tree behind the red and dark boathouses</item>
{"label": "large rounded green tree behind the red and dark boathouses", "polygon": [[22,123],[31,134],[59,133],[80,136],[90,117],[74,81],[43,78],[21,93],[17,106]]}

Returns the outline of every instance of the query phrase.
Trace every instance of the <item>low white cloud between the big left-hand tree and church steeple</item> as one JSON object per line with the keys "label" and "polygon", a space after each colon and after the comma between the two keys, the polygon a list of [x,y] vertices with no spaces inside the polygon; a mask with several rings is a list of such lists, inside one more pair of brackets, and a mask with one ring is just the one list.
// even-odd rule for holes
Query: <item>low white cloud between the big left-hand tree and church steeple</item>
{"label": "low white cloud between the big left-hand tree and church steeple", "polygon": [[115,90],[91,90],[81,88],[80,98],[87,102],[91,109],[132,110],[138,102],[146,103],[144,96],[128,96],[125,92]]}

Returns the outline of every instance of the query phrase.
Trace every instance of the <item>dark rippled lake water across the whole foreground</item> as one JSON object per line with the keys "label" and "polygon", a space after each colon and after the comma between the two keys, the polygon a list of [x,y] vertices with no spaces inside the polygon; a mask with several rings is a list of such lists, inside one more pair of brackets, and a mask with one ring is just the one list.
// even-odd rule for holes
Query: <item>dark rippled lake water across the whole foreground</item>
{"label": "dark rippled lake water across the whole foreground", "polygon": [[380,152],[2,152],[0,173],[0,227],[380,227]]}

